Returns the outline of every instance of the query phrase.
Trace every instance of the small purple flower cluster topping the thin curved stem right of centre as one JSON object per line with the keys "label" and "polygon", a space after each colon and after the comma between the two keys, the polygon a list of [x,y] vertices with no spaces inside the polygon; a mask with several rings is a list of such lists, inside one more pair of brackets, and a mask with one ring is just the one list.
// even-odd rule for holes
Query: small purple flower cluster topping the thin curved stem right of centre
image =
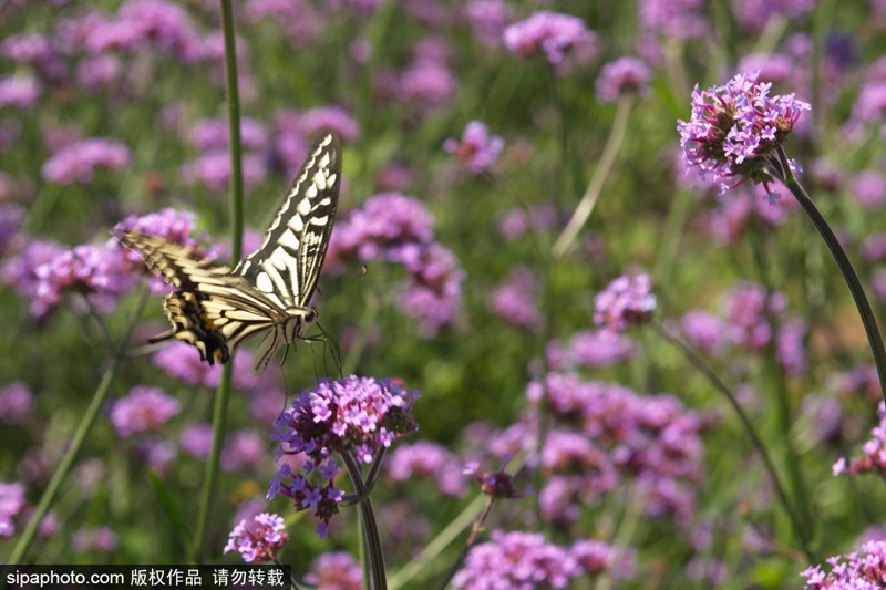
{"label": "small purple flower cluster topping the thin curved stem right of centre", "polygon": [[594,323],[610,332],[624,332],[647,323],[656,311],[656,296],[649,275],[625,275],[610,282],[594,298]]}

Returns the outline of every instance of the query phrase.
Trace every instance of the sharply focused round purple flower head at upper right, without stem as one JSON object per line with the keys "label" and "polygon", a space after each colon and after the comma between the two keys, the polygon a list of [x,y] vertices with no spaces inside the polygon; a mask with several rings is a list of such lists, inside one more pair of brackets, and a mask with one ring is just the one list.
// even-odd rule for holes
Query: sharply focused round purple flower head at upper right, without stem
{"label": "sharply focused round purple flower head at upper right, without stem", "polygon": [[734,179],[722,192],[745,179],[764,186],[781,178],[776,151],[808,103],[793,94],[770,96],[771,83],[758,83],[758,73],[738,74],[725,86],[692,92],[692,116],[679,121],[680,146],[687,168],[710,173],[714,180]]}

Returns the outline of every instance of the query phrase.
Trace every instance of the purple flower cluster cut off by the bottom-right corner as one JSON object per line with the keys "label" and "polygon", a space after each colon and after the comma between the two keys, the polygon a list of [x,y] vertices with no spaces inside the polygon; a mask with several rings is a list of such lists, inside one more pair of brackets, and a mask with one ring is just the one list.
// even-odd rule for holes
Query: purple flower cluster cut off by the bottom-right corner
{"label": "purple flower cluster cut off by the bottom-right corner", "polygon": [[879,590],[886,583],[886,540],[867,541],[862,551],[827,559],[831,571],[815,565],[800,575],[804,590]]}

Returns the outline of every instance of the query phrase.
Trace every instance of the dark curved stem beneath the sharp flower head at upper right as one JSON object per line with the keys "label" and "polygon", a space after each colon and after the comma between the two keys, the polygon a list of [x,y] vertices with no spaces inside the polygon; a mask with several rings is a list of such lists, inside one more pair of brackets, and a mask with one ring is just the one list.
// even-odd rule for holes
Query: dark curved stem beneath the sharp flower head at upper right
{"label": "dark curved stem beneath the sharp flower head at upper right", "polygon": [[822,239],[824,239],[824,242],[827,245],[827,249],[831,250],[831,255],[834,257],[837,267],[839,267],[839,271],[843,273],[843,279],[846,281],[846,284],[849,288],[849,292],[852,292],[852,297],[855,300],[855,307],[858,309],[858,314],[862,317],[862,323],[865,327],[867,343],[870,345],[870,352],[874,353],[874,364],[877,368],[880,394],[883,395],[884,402],[886,402],[886,350],[883,348],[883,337],[880,335],[879,328],[877,327],[877,319],[874,315],[874,311],[870,309],[870,303],[867,300],[864,287],[862,287],[862,281],[858,279],[858,275],[855,272],[852,262],[849,262],[849,258],[846,256],[846,251],[843,249],[843,246],[841,246],[839,240],[834,235],[834,231],[815,207],[815,204],[806,194],[806,190],[791,172],[791,166],[787,162],[787,155],[784,153],[783,147],[779,147],[777,170],[781,173],[781,175],[774,176],[779,178],[789,190],[791,190],[796,200],[800,203],[800,206],[803,207],[804,211],[806,211],[806,216],[808,216],[808,218],[812,220],[815,229],[818,230],[818,235],[822,236]]}

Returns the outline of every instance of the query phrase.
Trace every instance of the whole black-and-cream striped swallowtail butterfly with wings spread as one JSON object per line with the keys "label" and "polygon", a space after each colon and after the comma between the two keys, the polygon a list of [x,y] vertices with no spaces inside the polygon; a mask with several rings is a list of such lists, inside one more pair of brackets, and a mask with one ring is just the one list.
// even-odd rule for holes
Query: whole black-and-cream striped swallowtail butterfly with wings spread
{"label": "whole black-and-cream striped swallowtail butterfly with wings spread", "polygon": [[329,247],[340,185],[340,141],[327,132],[311,147],[261,245],[234,270],[193,247],[121,231],[117,239],[176,289],[163,300],[172,329],[148,342],[187,342],[214,364],[226,363],[243,341],[264,334],[253,368],[264,371],[281,346],[302,338],[317,321],[310,301]]}

